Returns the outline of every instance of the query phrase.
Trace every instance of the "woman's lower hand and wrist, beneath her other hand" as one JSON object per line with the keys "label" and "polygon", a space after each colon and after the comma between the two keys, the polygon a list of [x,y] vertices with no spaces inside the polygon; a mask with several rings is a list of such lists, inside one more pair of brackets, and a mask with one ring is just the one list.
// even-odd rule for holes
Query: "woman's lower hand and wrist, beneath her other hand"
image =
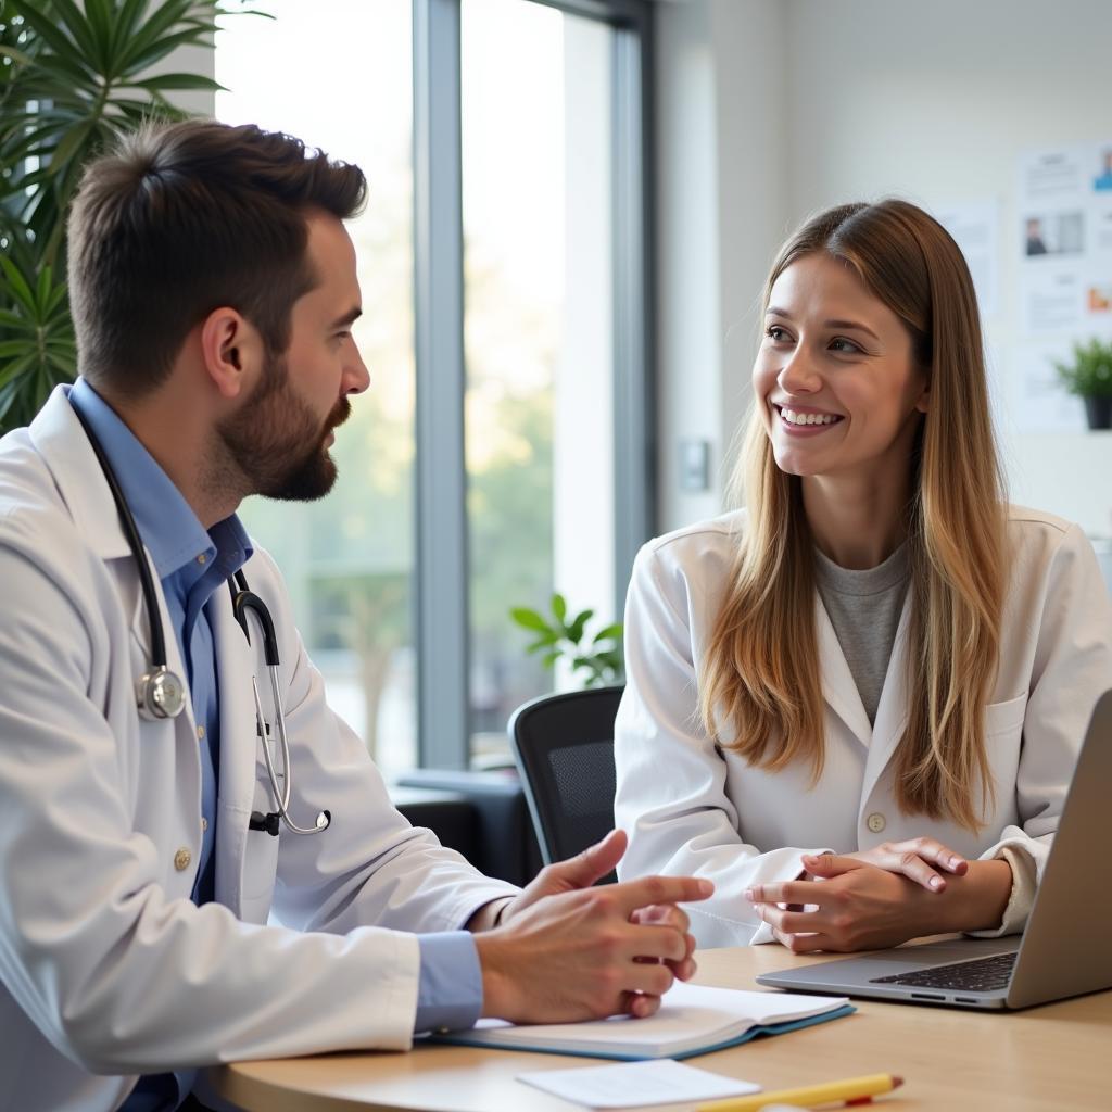
{"label": "woman's lower hand and wrist, beneath her other hand", "polygon": [[[824,880],[757,884],[745,892],[777,941],[795,953],[877,950],[924,934],[991,929],[1012,883],[1006,861],[967,864],[944,892],[853,855],[813,861],[822,862]],[[804,905],[816,910],[795,910]]]}

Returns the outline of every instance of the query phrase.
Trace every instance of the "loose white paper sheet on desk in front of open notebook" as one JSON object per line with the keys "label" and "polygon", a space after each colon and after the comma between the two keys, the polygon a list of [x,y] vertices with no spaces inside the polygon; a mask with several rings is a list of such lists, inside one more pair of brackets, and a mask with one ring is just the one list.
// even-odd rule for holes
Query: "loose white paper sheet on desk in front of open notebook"
{"label": "loose white paper sheet on desk in front of open notebook", "polygon": [[712,1101],[761,1091],[752,1081],[723,1078],[671,1059],[588,1065],[578,1070],[534,1070],[519,1073],[517,1080],[593,1109]]}

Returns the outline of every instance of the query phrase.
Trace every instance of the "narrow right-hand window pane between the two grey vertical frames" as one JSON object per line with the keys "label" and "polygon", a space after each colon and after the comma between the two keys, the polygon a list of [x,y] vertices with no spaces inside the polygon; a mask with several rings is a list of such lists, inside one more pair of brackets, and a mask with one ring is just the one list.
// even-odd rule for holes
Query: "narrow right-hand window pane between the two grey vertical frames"
{"label": "narrow right-hand window pane between the two grey vertical frames", "polygon": [[[614,31],[461,6],[465,444],[473,759],[549,687],[508,605],[559,589],[614,619],[609,100]],[[513,43],[513,49],[507,49]],[[564,678],[564,677],[559,677]]]}

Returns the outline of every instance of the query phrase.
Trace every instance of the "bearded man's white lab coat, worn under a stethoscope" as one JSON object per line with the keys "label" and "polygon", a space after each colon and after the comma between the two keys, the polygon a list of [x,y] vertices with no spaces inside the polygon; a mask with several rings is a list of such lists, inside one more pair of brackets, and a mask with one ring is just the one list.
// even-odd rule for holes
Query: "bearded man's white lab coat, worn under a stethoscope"
{"label": "bearded man's white lab coat, worn under a stethoscope", "polygon": [[[201,845],[191,709],[141,722],[149,633],[135,559],[62,390],[0,443],[0,1110],[117,1108],[135,1074],[246,1058],[410,1045],[414,934],[459,929],[517,890],[391,806],[325,704],[281,577],[246,568],[281,656],[299,837],[269,811],[252,671],[215,598],[219,903],[189,898]],[[157,585],[157,577],[156,577]],[[168,662],[186,672],[161,590]],[[264,925],[268,914],[285,925]]]}

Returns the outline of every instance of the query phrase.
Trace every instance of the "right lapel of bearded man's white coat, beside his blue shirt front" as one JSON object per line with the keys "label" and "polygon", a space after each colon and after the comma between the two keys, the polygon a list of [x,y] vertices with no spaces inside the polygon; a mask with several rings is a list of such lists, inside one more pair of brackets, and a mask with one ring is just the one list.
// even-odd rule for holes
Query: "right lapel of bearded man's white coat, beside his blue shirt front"
{"label": "right lapel of bearded man's white coat, beside his blue shirt front", "polygon": [[247,823],[255,797],[257,749],[254,654],[231,610],[226,590],[210,607],[220,677],[220,788],[217,800],[216,898],[239,914],[242,901]]}

